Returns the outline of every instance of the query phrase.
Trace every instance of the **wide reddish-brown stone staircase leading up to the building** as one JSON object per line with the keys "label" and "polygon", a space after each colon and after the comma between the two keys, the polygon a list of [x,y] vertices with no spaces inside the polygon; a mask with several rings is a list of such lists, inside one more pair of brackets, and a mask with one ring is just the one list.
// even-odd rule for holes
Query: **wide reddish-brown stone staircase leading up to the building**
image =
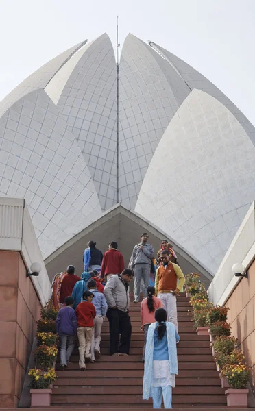
{"label": "wide reddish-brown stone staircase leading up to the building", "polygon": [[[131,296],[132,300],[132,296]],[[178,297],[179,375],[173,388],[173,408],[224,409],[227,406],[224,388],[221,388],[210,349],[209,336],[197,336],[191,317],[189,300]],[[108,320],[104,322],[101,358],[86,364],[82,372],[78,366],[78,350],[73,352],[71,364],[65,371],[57,371],[53,385],[51,408],[152,408],[151,401],[143,401],[143,332],[141,331],[140,304],[130,304],[132,340],[130,356],[109,355]],[[58,369],[59,364],[57,365]]]}

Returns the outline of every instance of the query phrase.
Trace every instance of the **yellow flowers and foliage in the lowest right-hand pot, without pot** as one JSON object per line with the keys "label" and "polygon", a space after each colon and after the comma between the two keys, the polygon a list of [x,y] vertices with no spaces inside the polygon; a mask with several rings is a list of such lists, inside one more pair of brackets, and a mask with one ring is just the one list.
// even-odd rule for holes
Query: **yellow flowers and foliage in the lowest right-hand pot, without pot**
{"label": "yellow flowers and foliage in the lowest right-hand pot, without pot", "polygon": [[230,388],[244,389],[250,377],[250,371],[245,364],[226,364],[221,370],[221,375],[228,379]]}

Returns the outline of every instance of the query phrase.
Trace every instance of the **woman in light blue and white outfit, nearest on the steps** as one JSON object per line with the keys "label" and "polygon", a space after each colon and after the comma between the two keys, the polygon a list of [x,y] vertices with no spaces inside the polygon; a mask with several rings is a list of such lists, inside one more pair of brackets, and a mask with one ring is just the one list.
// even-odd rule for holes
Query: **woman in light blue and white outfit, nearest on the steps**
{"label": "woman in light blue and white outfit, nearest on the steps", "polygon": [[167,312],[158,308],[156,323],[149,326],[145,351],[143,399],[152,397],[153,408],[172,408],[172,387],[178,374],[176,344],[180,340],[173,323],[167,322]]}

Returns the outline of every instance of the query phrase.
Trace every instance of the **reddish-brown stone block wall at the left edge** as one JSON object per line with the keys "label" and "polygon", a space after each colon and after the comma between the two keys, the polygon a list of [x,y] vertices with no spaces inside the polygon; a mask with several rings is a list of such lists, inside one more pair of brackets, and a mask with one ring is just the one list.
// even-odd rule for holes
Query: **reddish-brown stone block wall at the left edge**
{"label": "reddish-brown stone block wall at the left edge", "polygon": [[0,404],[15,408],[40,318],[40,301],[21,254],[0,250]]}

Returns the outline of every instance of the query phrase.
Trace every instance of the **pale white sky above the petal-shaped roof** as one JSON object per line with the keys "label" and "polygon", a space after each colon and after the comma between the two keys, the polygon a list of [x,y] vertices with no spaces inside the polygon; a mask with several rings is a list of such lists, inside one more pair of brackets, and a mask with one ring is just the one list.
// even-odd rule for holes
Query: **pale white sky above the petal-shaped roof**
{"label": "pale white sky above the petal-shaped roof", "polygon": [[0,100],[86,38],[131,32],[208,77],[255,125],[254,0],[0,0]]}

